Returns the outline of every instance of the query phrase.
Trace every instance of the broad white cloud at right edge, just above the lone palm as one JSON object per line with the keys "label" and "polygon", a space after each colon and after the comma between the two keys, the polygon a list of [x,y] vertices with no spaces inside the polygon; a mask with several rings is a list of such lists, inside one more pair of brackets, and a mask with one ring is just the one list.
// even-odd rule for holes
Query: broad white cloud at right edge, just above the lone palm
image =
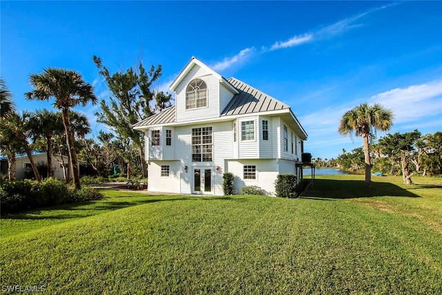
{"label": "broad white cloud at right edge, just above the lone palm", "polygon": [[370,101],[391,108],[394,123],[422,120],[442,113],[442,80],[395,88],[372,96]]}

